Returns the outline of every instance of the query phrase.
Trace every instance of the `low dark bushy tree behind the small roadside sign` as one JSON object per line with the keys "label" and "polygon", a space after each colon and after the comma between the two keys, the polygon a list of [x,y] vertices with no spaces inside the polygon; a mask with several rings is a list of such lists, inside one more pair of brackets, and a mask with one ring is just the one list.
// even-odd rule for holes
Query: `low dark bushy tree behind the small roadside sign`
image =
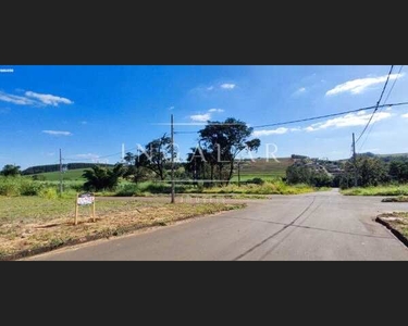
{"label": "low dark bushy tree behind the small roadside sign", "polygon": [[112,190],[118,186],[119,178],[123,176],[123,164],[116,164],[113,168],[95,165],[92,170],[87,170],[83,177],[87,179],[84,188],[87,190]]}

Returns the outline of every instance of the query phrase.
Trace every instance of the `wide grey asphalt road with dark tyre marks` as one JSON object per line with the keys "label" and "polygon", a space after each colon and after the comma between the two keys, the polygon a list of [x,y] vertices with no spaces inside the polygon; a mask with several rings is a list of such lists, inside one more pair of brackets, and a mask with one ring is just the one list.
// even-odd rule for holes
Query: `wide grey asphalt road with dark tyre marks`
{"label": "wide grey asphalt road with dark tyre marks", "polygon": [[404,247],[373,220],[408,203],[344,197],[337,191],[272,196],[248,208],[154,230],[61,249],[29,260],[408,260]]}

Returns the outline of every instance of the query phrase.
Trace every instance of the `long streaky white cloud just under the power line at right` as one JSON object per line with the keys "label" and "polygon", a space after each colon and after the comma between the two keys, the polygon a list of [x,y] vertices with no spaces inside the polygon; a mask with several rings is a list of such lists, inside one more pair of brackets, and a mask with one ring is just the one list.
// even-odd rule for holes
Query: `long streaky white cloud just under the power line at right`
{"label": "long streaky white cloud just under the power line at right", "polygon": [[[390,112],[380,112],[374,115],[371,123],[375,123],[392,116]],[[317,131],[321,129],[327,129],[330,127],[343,128],[353,126],[364,126],[371,117],[371,113],[360,111],[358,113],[349,113],[341,117],[327,120],[325,122],[312,124],[305,128],[306,131]]]}

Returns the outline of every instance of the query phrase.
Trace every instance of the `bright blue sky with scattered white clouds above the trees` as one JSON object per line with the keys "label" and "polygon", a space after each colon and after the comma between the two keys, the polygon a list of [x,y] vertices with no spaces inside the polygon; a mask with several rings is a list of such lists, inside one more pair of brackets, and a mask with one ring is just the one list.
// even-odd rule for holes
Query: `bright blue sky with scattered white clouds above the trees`
{"label": "bright blue sky with scattered white clouds above the trees", "polygon": [[[408,77],[394,67],[387,103],[407,101]],[[12,70],[12,71],[10,71]],[[257,126],[374,105],[390,66],[2,66],[0,65],[0,166],[106,161],[145,145],[177,124],[233,116]],[[387,91],[385,92],[385,96]],[[385,99],[384,96],[384,99]],[[351,133],[370,112],[274,128],[257,128],[276,156],[293,153],[344,159]],[[382,110],[361,151],[408,152],[408,106]],[[197,125],[176,125],[178,131]],[[196,135],[176,135],[182,156]],[[398,140],[399,139],[399,140]],[[362,141],[361,141],[362,143]],[[270,147],[271,148],[271,147]],[[359,149],[359,146],[357,147]]]}

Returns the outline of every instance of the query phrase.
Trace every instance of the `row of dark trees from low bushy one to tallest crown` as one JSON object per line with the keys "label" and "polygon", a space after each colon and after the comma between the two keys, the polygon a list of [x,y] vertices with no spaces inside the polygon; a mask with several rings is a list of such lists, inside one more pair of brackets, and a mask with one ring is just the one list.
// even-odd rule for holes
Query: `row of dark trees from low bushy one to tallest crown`
{"label": "row of dark trees from low bushy one to tallest crown", "polygon": [[[245,122],[230,117],[224,122],[211,122],[198,131],[198,146],[187,154],[187,163],[175,163],[175,177],[206,180],[206,186],[227,185],[233,177],[235,162],[243,151],[257,151],[258,138],[251,138],[252,128]],[[173,159],[176,153],[173,153]],[[104,189],[118,184],[120,177],[136,184],[146,179],[165,180],[171,170],[171,138],[163,135],[148,142],[135,153],[127,152],[124,164],[108,171],[94,166],[84,174],[87,188]],[[100,183],[99,180],[103,180]],[[115,181],[113,181],[115,180]]]}

